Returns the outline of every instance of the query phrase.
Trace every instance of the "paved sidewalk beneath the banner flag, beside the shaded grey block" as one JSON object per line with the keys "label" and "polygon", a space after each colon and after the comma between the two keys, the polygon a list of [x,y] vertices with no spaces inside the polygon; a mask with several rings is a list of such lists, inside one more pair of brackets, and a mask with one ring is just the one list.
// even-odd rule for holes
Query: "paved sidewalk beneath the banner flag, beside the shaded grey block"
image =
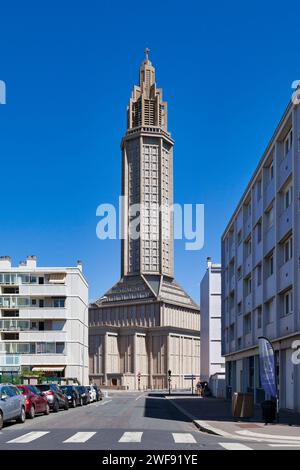
{"label": "paved sidewalk beneath the banner flag, beside the shaded grey block", "polygon": [[268,424],[261,419],[261,408],[256,406],[248,420],[232,418],[231,402],[217,398],[166,396],[203,432],[241,440],[290,442],[300,445],[300,413],[281,411],[279,423]]}

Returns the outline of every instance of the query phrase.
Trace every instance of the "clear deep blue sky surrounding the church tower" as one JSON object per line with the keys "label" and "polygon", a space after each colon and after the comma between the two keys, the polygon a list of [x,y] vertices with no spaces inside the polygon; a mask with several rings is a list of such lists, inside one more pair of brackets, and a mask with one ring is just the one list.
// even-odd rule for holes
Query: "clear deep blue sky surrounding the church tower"
{"label": "clear deep blue sky surrounding the church tower", "polygon": [[126,105],[145,46],[169,104],[175,201],[205,204],[205,246],[175,244],[199,301],[220,236],[300,79],[296,1],[11,1],[0,4],[0,254],[82,259],[90,299],[119,278],[118,241],[96,238],[117,203]]}

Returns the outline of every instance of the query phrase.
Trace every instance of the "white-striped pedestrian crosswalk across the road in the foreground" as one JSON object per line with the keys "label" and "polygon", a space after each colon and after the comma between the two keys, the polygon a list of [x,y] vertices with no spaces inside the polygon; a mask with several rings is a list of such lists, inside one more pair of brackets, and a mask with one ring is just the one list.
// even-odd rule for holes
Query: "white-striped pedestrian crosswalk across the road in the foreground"
{"label": "white-striped pedestrian crosswalk across the road in the foreground", "polygon": [[[92,446],[95,445],[97,446],[99,442],[103,441],[103,432],[104,430],[96,430],[96,431],[78,431],[78,432],[73,432],[70,430],[63,430],[62,433],[59,435],[57,434],[57,430],[51,430],[51,431],[31,431],[27,432],[24,434],[21,434],[17,437],[14,437],[13,439],[6,440],[5,435],[2,433],[1,435],[1,442],[0,442],[0,447],[2,447],[3,444],[7,444],[9,448],[13,448],[13,446],[17,446],[20,448],[22,445],[23,446],[30,446],[30,444],[35,445],[36,441],[39,441],[44,439],[44,443],[48,443],[49,439],[50,442],[53,442],[53,445],[59,446],[61,444],[62,448],[69,448],[71,444],[73,445],[84,445],[84,444],[91,444]],[[118,446],[120,445],[128,445],[128,448],[131,448],[131,445],[133,446],[139,446],[139,445],[144,445],[147,446],[147,442],[151,442],[153,445],[153,435],[152,438],[149,440],[149,434],[151,431],[120,431],[118,435],[114,435],[113,441],[115,442],[115,445]],[[105,431],[105,435],[107,436],[107,431]],[[97,440],[98,439],[98,440]],[[55,444],[54,444],[55,442]],[[189,448],[190,446],[193,446],[193,448],[197,449],[197,446],[200,447],[202,446],[203,448],[203,436],[201,433],[189,433],[189,432],[169,432],[166,431],[164,433],[164,442],[166,442],[166,448],[168,447],[169,444],[173,443],[173,445],[176,447],[177,445],[181,445],[181,448],[183,446],[187,446]],[[210,443],[211,445],[217,446],[223,450],[255,450],[256,445],[255,443],[250,443],[247,442],[247,445],[245,443],[241,442],[232,442],[230,440],[226,442],[218,442],[215,440],[214,443]],[[207,445],[207,444],[206,444]],[[260,445],[263,445],[261,442]],[[282,443],[268,443],[266,442],[264,445],[264,448],[270,448],[274,449],[276,447],[278,448],[283,448],[283,447],[297,447],[300,449],[300,444],[282,444]],[[48,447],[48,445],[47,445]],[[208,445],[209,447],[209,445]],[[80,447],[82,448],[82,447]]]}

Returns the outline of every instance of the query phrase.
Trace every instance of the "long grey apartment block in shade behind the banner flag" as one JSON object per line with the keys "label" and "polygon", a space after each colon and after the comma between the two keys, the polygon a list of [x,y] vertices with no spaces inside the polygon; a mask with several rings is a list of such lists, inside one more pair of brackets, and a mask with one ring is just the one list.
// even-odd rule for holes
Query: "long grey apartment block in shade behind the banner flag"
{"label": "long grey apartment block in shade behind the banner flag", "polygon": [[[287,107],[222,236],[227,394],[265,398],[257,339],[272,342],[280,406],[300,411],[300,107]],[[203,333],[202,333],[203,334]]]}

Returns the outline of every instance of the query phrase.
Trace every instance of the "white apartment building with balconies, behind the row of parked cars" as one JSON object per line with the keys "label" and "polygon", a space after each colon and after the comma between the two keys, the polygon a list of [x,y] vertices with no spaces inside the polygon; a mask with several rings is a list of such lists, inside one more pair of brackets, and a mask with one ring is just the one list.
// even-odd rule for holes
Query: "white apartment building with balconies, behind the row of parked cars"
{"label": "white apartment building with balconies, behind the row of parked cars", "polygon": [[88,384],[88,284],[82,264],[18,267],[0,258],[0,373],[43,371]]}

